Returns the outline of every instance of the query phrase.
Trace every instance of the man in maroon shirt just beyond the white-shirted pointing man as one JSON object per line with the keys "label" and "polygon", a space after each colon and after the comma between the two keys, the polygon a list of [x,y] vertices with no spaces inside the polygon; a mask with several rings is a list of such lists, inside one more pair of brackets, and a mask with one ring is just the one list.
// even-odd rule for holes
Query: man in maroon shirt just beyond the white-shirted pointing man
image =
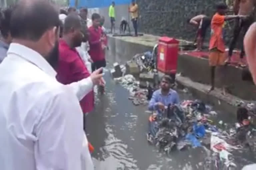
{"label": "man in maroon shirt just beyond the white-shirted pointing man", "polygon": [[[90,76],[82,58],[75,49],[81,45],[82,40],[84,40],[84,34],[81,32],[80,19],[77,15],[70,14],[65,19],[63,37],[59,40],[59,62],[56,78],[63,84],[77,82]],[[84,114],[93,110],[93,91],[80,101],[80,105]]]}

